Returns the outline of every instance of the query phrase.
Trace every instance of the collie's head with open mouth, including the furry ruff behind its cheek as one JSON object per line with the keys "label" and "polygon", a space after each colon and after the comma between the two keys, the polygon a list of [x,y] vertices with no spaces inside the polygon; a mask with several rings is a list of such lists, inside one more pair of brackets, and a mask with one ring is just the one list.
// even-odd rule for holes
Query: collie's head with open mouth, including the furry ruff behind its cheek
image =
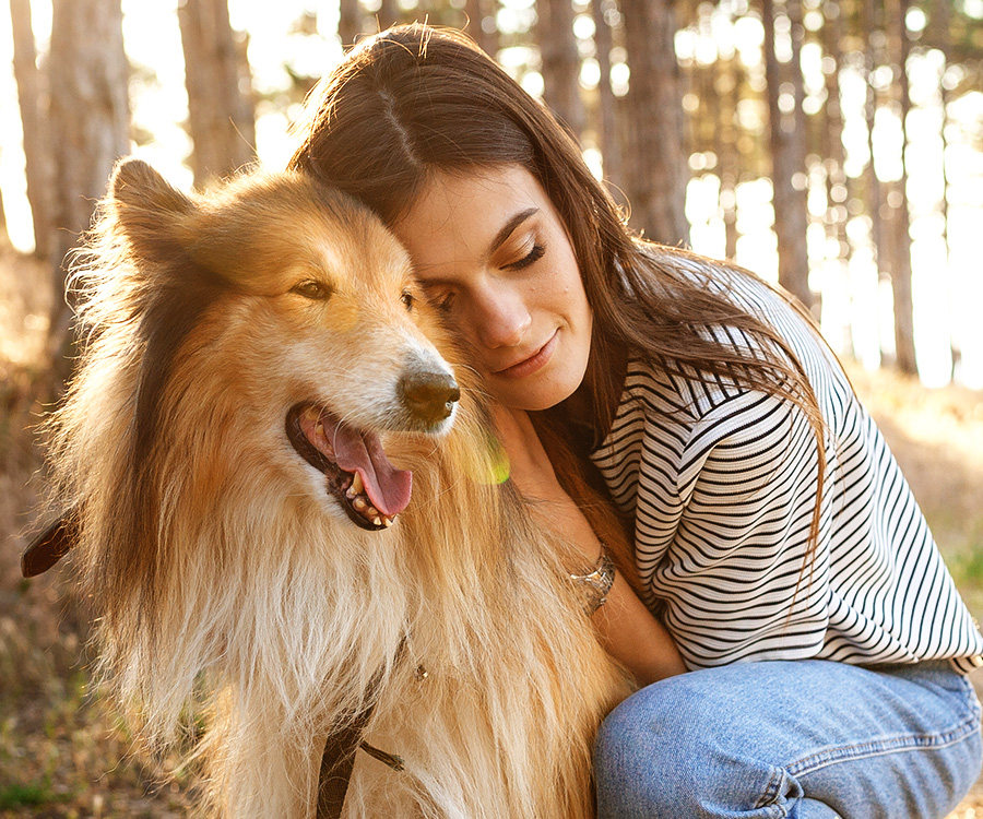
{"label": "collie's head with open mouth, including the furry ruff behind its cheek", "polygon": [[156,542],[178,496],[191,519],[276,495],[369,531],[406,507],[383,442],[446,431],[460,394],[410,259],[367,209],[299,174],[188,197],[131,159],[80,261],[85,352],[51,428],[69,501],[120,519],[94,530]]}

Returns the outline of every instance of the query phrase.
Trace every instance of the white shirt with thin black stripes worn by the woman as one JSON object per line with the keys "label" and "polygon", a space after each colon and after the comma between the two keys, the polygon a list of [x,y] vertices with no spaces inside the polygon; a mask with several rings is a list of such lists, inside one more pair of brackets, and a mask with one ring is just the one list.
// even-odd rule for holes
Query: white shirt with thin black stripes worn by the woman
{"label": "white shirt with thin black stripes worn by the woman", "polygon": [[[962,672],[983,665],[983,637],[834,357],[762,282],[721,271],[708,286],[772,325],[795,353],[825,420],[827,467],[818,544],[806,561],[819,467],[805,414],[733,381],[629,363],[592,460],[635,520],[646,603],[686,665],[806,657],[952,658]],[[760,349],[734,329],[713,335]]]}

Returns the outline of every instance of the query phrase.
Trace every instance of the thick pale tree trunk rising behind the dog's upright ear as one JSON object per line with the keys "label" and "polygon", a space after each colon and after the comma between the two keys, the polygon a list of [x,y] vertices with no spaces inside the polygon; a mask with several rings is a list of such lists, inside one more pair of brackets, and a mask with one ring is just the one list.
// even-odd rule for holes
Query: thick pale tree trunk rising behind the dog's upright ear
{"label": "thick pale tree trunk rising behind the dog's upright ear", "polygon": [[[64,292],[62,260],[90,227],[116,161],[130,151],[130,67],[123,51],[120,0],[54,0],[50,122],[54,156],[56,293]],[[50,352],[57,376],[68,375],[59,353],[69,343],[69,310],[55,299]]]}

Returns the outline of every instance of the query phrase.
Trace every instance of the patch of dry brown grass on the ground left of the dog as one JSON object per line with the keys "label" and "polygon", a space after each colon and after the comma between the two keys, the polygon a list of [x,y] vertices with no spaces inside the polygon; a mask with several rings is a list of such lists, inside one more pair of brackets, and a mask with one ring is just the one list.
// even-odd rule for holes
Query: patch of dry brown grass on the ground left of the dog
{"label": "patch of dry brown grass on the ground left of the dog", "polygon": [[137,752],[88,689],[70,567],[26,581],[20,555],[44,476],[34,427],[50,306],[46,271],[0,247],[0,817],[179,817],[190,778]]}

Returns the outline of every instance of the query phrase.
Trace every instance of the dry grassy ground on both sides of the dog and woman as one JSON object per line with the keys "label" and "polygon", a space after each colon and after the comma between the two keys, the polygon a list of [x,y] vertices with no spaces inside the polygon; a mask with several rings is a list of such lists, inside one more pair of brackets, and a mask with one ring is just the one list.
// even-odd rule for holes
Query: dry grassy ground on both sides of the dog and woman
{"label": "dry grassy ground on both sides of the dog and woman", "polygon": [[[32,581],[19,559],[44,476],[47,272],[0,244],[0,819],[180,817],[192,773],[142,753],[87,686],[84,605],[70,567]],[[983,393],[926,390],[851,366],[973,614],[983,619]],[[974,678],[983,690],[983,673]],[[948,819],[983,819],[983,780]]]}

